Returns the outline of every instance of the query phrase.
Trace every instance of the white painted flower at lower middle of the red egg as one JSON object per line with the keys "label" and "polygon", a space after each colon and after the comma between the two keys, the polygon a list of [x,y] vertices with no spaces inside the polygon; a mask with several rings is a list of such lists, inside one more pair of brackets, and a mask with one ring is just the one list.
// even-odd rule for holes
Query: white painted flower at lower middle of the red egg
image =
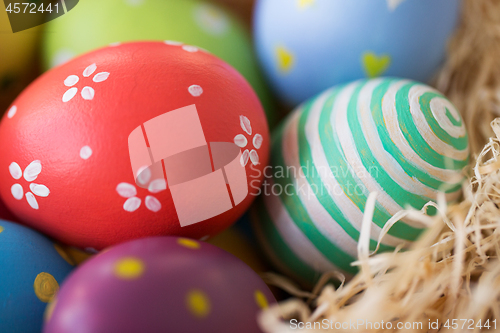
{"label": "white painted flower at lower middle of the red egg", "polygon": [[[167,182],[165,179],[155,179],[151,181],[151,172],[149,169],[141,172],[138,181],[143,185],[148,185],[148,191],[152,194],[162,192],[167,189]],[[137,189],[134,185],[129,183],[120,183],[116,186],[116,192],[127,201],[123,204],[123,209],[127,212],[135,212],[141,206],[142,200],[137,197]],[[150,211],[156,213],[161,209],[161,203],[152,195],[146,196],[145,200],[146,208]]]}

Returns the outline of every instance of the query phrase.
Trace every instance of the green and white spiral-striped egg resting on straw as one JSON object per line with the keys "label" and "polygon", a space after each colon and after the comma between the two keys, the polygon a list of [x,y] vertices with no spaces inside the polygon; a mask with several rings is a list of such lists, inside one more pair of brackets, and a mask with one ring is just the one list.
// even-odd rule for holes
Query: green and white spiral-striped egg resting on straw
{"label": "green and white spiral-striped egg resting on straw", "polygon": [[[337,86],[302,104],[274,133],[273,178],[263,186],[254,227],[269,257],[311,283],[321,273],[356,273],[363,212],[377,192],[370,249],[386,222],[407,205],[421,209],[445,192],[461,195],[467,132],[436,90],[401,79]],[[427,209],[428,214],[435,211]],[[424,225],[404,218],[380,251],[411,244]]]}

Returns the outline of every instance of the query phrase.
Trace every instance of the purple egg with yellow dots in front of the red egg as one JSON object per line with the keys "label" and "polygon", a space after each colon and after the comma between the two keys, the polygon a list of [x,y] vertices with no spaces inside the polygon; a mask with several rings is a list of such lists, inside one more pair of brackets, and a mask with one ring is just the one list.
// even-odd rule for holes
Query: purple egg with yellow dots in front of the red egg
{"label": "purple egg with yellow dots in front of the red egg", "polygon": [[250,267],[216,246],[145,238],[80,266],[47,307],[43,332],[254,333],[258,312],[275,302]]}

